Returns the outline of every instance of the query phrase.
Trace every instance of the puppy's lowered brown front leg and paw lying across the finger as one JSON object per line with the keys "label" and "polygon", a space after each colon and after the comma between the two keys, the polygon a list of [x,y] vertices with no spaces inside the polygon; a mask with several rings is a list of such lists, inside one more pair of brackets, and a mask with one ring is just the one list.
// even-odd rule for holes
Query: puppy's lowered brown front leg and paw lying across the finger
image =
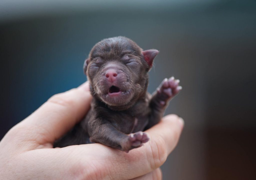
{"label": "puppy's lowered brown front leg and paw lying across the finger", "polygon": [[118,131],[111,123],[104,123],[91,132],[90,140],[121,151],[129,152],[131,149],[141,147],[149,138],[145,132],[127,135]]}

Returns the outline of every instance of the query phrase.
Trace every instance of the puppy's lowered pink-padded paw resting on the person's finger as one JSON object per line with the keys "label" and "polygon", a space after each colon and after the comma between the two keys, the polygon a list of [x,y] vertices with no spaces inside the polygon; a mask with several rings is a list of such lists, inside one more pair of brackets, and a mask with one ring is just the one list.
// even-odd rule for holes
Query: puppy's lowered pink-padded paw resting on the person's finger
{"label": "puppy's lowered pink-padded paw resting on the person's finger", "polygon": [[148,142],[149,137],[145,132],[136,132],[129,134],[129,136],[121,144],[122,150],[129,152],[131,149],[141,147],[143,143]]}

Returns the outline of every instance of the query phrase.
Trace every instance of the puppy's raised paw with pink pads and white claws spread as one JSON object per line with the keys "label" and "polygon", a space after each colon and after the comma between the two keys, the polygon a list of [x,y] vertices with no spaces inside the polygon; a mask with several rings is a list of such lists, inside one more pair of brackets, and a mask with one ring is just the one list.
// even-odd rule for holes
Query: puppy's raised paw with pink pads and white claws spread
{"label": "puppy's raised paw with pink pads and white claws spread", "polygon": [[174,77],[165,78],[157,88],[157,94],[159,99],[161,99],[161,104],[165,105],[166,101],[178,94],[181,89],[182,87],[179,86],[178,79],[174,79]]}

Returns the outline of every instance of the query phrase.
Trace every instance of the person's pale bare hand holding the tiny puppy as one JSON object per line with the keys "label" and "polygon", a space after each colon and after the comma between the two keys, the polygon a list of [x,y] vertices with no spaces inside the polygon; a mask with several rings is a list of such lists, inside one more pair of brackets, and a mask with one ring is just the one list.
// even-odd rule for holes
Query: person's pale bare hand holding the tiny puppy
{"label": "person's pale bare hand holding the tiny puppy", "polygon": [[129,153],[95,143],[53,148],[90,108],[88,82],[56,94],[0,142],[1,179],[162,179],[159,168],[175,148],[184,121],[167,115]]}

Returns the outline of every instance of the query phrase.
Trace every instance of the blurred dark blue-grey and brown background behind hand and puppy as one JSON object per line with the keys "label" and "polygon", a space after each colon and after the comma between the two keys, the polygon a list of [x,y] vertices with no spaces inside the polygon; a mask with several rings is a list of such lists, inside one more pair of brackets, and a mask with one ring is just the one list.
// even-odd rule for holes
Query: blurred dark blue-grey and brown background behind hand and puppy
{"label": "blurred dark blue-grey and brown background behind hand and puppy", "polygon": [[86,81],[90,49],[119,35],[160,50],[149,92],[170,76],[183,86],[166,110],[185,128],[163,179],[255,179],[254,0],[1,0],[0,139]]}

